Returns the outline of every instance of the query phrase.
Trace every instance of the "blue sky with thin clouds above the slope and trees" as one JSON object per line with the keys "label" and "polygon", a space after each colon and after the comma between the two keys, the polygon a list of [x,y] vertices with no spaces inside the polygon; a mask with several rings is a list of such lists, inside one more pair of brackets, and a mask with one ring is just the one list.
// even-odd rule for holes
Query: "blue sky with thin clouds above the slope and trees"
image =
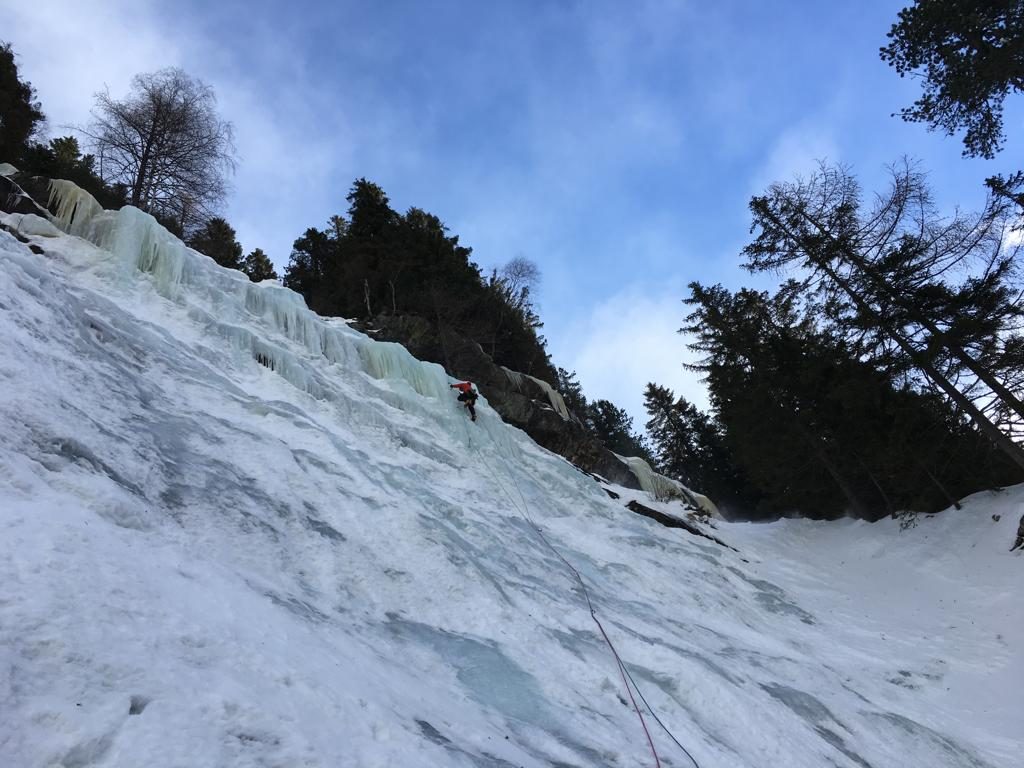
{"label": "blue sky with thin clouds above the slope and trees", "polygon": [[891,117],[919,88],[878,56],[904,4],[0,0],[0,36],[51,135],[137,72],[213,85],[241,157],[227,217],[279,268],[359,176],[484,269],[532,259],[555,361],[639,426],[647,381],[706,401],[675,333],[687,283],[769,285],[738,266],[768,183],[828,158],[870,188],[906,154],[971,208],[1021,165],[1017,104],[989,162]]}

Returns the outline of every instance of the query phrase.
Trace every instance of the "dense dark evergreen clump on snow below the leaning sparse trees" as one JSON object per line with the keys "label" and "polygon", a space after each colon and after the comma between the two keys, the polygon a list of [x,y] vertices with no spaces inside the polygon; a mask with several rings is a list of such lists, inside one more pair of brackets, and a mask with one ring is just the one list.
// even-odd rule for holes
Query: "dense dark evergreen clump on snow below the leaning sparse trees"
{"label": "dense dark evergreen clump on snow below the leaning sparse trees", "polygon": [[775,295],[690,288],[685,330],[705,355],[693,368],[765,511],[934,511],[1020,476],[948,401],[872,359],[861,334],[847,339],[806,284]]}

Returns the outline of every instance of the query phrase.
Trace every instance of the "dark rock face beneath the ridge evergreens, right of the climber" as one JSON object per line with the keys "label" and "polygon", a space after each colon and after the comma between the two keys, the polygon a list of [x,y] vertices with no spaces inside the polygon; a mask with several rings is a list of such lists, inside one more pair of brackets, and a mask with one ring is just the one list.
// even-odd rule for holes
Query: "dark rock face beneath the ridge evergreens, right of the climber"
{"label": "dark rock face beneath the ridge evergreens, right of the climber", "polygon": [[420,359],[438,362],[452,376],[473,382],[502,419],[583,471],[640,487],[636,475],[579,419],[571,414],[565,419],[555,410],[544,387],[495,365],[475,341],[449,329],[438,333],[428,321],[412,315],[380,315],[359,330],[381,341],[396,341]]}

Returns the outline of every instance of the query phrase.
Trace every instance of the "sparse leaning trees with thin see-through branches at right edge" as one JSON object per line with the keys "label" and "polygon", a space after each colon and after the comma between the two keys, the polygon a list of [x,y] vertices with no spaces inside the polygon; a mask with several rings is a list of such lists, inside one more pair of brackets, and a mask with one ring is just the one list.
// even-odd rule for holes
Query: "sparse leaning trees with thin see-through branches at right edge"
{"label": "sparse leaning trees with thin see-through branches at right edge", "polygon": [[[906,164],[894,167],[889,193],[870,209],[862,210],[856,180],[839,167],[822,165],[808,179],[773,184],[751,201],[757,237],[743,249],[746,267],[801,269],[823,292],[844,297],[856,324],[902,355],[1024,469],[1024,451],[971,396],[984,387],[976,396],[993,397],[1024,418],[1007,371],[986,365],[996,359],[991,350],[1019,339],[1021,306],[1011,297],[1020,294],[1007,284],[1017,250],[1005,239],[1009,202],[990,196],[981,213],[943,219],[923,175]],[[946,291],[965,272],[955,293]],[[981,349],[989,350],[987,361]],[[966,384],[957,386],[962,379]]]}

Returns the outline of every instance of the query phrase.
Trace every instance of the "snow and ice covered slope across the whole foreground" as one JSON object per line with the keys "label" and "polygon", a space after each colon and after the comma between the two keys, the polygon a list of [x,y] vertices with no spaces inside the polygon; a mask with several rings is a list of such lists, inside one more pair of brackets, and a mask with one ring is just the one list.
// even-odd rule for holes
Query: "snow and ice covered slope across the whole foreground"
{"label": "snow and ice covered slope across the whole foreground", "polygon": [[137,212],[0,221],[0,766],[654,765],[530,520],[702,768],[1021,764],[1024,489],[732,551]]}

